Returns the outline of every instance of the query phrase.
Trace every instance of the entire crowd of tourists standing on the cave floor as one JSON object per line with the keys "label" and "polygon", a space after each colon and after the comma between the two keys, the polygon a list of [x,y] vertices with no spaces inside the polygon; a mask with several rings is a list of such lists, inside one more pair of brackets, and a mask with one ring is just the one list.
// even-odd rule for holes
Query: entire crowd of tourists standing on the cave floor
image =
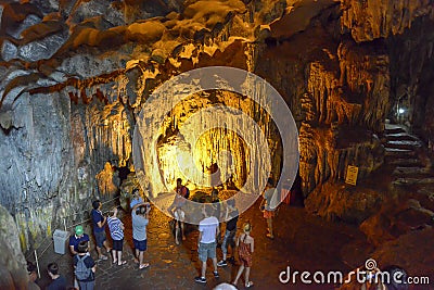
{"label": "entire crowd of tourists standing on the cave floor", "polygon": [[[186,213],[183,206],[189,199],[190,190],[182,185],[180,178],[177,179],[177,187],[175,188],[176,196],[173,204],[168,207],[169,213],[177,220],[175,231],[175,242],[180,243],[180,240],[186,240],[184,236],[184,218]],[[143,269],[149,267],[149,263],[143,260],[143,254],[148,248],[146,226],[149,224],[150,203],[143,202],[139,194],[139,190],[132,191],[133,198],[131,199],[131,224],[132,224],[132,243],[135,247],[135,262],[138,263],[138,268]],[[265,198],[267,198],[265,196]],[[239,218],[239,211],[235,206],[234,199],[229,199],[222,206],[222,202],[218,198],[218,190],[213,189],[210,194],[212,203],[214,206],[202,207],[203,218],[199,223],[199,240],[197,253],[201,261],[201,275],[195,277],[196,282],[206,282],[206,262],[208,259],[213,261],[214,277],[218,278],[218,267],[228,266],[228,262],[234,265],[235,249],[239,249],[239,261],[241,263],[232,285],[237,285],[242,274],[244,273],[244,286],[250,288],[253,282],[250,280],[250,269],[252,266],[252,254],[254,252],[254,238],[251,236],[252,224],[244,223],[242,232],[237,237],[237,224]],[[267,202],[269,203],[269,201]],[[272,217],[272,211],[268,207],[267,220]],[[127,261],[123,259],[124,245],[124,229],[125,225],[118,217],[118,209],[112,207],[107,214],[102,212],[102,203],[99,200],[92,202],[91,220],[94,235],[95,250],[98,253],[97,261],[108,260],[106,254],[111,253],[112,263],[114,265],[123,266]],[[264,214],[266,216],[266,214]],[[219,219],[227,220],[224,235],[220,234],[221,224]],[[108,227],[112,238],[112,248],[110,248],[105,227]],[[272,237],[272,224],[268,223],[269,234]],[[94,288],[94,277],[97,272],[97,264],[89,251],[90,238],[85,234],[82,226],[75,227],[74,235],[69,237],[69,251],[74,255],[74,274],[75,287],[80,290],[92,290]],[[222,259],[217,262],[217,245],[221,245]],[[231,249],[232,255],[228,257],[228,250]],[[104,252],[105,250],[105,252]],[[47,288],[49,290],[63,290],[66,288],[66,279],[60,275],[59,266],[51,263],[48,267],[48,274],[52,279],[51,285]],[[73,288],[74,289],[74,288]]]}

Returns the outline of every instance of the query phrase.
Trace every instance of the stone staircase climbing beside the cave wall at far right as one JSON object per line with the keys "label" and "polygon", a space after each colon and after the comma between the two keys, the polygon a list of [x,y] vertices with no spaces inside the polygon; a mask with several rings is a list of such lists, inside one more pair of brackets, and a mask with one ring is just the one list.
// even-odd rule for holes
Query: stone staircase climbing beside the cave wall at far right
{"label": "stone staircase climbing beside the cave wall at far right", "polygon": [[423,142],[405,126],[394,124],[386,124],[384,137],[385,164],[393,168],[392,187],[434,191],[434,171]]}

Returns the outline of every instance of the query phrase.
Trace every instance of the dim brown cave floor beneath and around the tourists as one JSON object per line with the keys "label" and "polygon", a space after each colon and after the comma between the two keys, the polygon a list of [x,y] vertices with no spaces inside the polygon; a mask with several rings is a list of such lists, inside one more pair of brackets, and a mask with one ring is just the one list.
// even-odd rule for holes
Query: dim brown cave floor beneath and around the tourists
{"label": "dim brown cave floor beneath and around the tourists", "polygon": [[[255,252],[251,280],[254,281],[255,289],[333,289],[335,286],[330,283],[303,285],[299,275],[295,285],[292,282],[283,285],[279,281],[279,274],[288,267],[291,268],[291,273],[341,270],[346,274],[363,265],[369,257],[368,254],[372,249],[357,226],[327,222],[309,215],[302,206],[286,204],[280,206],[275,219],[276,238],[269,240],[265,237],[266,222],[258,205],[259,201],[241,214],[238,224],[241,227],[245,220],[253,222]],[[187,230],[187,240],[176,245],[168,227],[169,217],[156,209],[151,212],[148,227],[145,261],[150,262],[151,266],[139,270],[133,262],[132,241],[128,239],[131,237],[130,217],[124,214],[122,219],[126,225],[124,257],[128,264],[117,266],[112,265],[110,260],[99,262],[97,289],[212,289],[219,282],[231,281],[234,278],[238,266],[228,264],[219,268],[220,278],[216,280],[208,261],[207,283],[194,282],[194,277],[200,272],[196,252],[197,230],[190,226]],[[95,251],[93,250],[91,254],[94,257]],[[221,257],[219,249],[217,255],[218,259]],[[62,274],[72,283],[72,256],[47,251],[40,260],[42,277],[39,285],[42,289],[48,283],[44,268],[50,262],[56,262]],[[244,288],[242,283],[241,279],[240,289]]]}

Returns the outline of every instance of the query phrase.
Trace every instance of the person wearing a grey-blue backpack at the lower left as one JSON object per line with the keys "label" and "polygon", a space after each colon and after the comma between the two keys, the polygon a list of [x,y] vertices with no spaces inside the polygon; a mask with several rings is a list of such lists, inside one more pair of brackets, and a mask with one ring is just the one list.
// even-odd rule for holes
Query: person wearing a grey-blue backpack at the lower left
{"label": "person wearing a grey-blue backpack at the lower left", "polygon": [[97,265],[88,252],[88,242],[80,241],[78,254],[74,256],[74,274],[77,277],[80,290],[93,290]]}

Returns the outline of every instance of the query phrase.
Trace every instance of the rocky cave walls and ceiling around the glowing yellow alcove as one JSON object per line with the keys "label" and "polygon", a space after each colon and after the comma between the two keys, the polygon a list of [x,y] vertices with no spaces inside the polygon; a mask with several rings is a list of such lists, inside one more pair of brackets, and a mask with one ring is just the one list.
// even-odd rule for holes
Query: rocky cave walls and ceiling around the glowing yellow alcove
{"label": "rocky cave walls and ceiling around the glowing yellow alcove", "polygon": [[[0,267],[94,199],[164,207],[178,177],[227,199],[272,177],[280,206],[434,279],[433,1],[0,0]],[[245,74],[167,86],[207,67]],[[360,265],[357,247],[335,259]]]}

